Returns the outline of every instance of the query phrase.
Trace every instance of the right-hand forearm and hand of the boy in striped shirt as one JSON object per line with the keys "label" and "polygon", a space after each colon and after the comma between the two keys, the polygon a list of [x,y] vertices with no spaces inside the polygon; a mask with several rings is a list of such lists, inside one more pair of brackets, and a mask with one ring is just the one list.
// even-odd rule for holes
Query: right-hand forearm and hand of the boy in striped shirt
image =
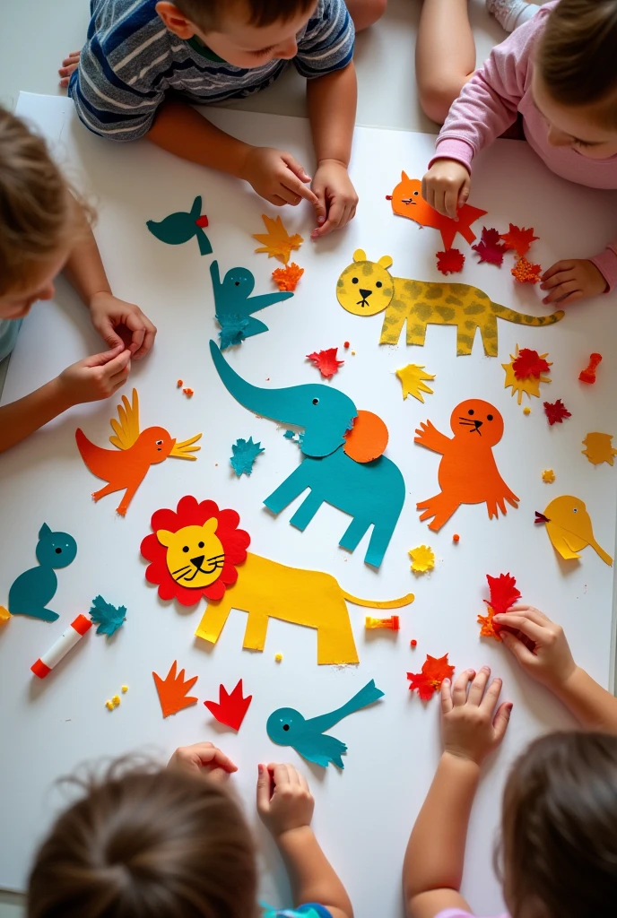
{"label": "right-hand forearm and hand of the boy in striped shirt", "polygon": [[357,82],[353,61],[308,80],[308,118],[317,157],[312,188],[318,197],[313,239],[341,229],[355,215],[358,196],[347,172],[352,155]]}

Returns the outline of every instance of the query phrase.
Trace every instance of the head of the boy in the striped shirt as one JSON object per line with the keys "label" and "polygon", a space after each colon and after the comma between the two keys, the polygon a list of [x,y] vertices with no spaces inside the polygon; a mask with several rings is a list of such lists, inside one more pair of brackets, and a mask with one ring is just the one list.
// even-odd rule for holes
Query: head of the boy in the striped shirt
{"label": "head of the boy in the striped shirt", "polygon": [[296,36],[317,0],[174,0],[156,8],[181,39],[194,35],[236,67],[296,56]]}

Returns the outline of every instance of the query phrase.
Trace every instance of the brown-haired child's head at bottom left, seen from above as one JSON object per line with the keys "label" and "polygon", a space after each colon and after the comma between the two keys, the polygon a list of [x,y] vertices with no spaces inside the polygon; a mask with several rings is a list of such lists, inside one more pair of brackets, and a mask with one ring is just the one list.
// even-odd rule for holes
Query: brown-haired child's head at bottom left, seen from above
{"label": "brown-haired child's head at bottom left, seen from above", "polygon": [[28,918],[254,918],[249,828],[218,783],[112,767],[51,829]]}

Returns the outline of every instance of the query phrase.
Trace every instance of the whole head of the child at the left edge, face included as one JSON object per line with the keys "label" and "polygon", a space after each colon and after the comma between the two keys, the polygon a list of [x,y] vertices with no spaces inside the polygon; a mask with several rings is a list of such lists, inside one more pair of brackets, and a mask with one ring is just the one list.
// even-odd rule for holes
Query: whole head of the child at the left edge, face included
{"label": "whole head of the child at the left edge, face included", "polygon": [[0,108],[0,319],[53,296],[78,210],[45,140]]}

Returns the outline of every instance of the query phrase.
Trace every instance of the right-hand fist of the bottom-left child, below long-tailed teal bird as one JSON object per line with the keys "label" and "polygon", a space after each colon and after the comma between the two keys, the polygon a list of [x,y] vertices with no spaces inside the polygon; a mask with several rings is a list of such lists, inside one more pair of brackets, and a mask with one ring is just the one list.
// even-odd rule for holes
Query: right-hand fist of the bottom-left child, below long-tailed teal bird
{"label": "right-hand fist of the bottom-left child, below long-tailed teal bird", "polygon": [[275,837],[310,825],[314,807],[307,779],[293,765],[259,766],[257,812]]}

